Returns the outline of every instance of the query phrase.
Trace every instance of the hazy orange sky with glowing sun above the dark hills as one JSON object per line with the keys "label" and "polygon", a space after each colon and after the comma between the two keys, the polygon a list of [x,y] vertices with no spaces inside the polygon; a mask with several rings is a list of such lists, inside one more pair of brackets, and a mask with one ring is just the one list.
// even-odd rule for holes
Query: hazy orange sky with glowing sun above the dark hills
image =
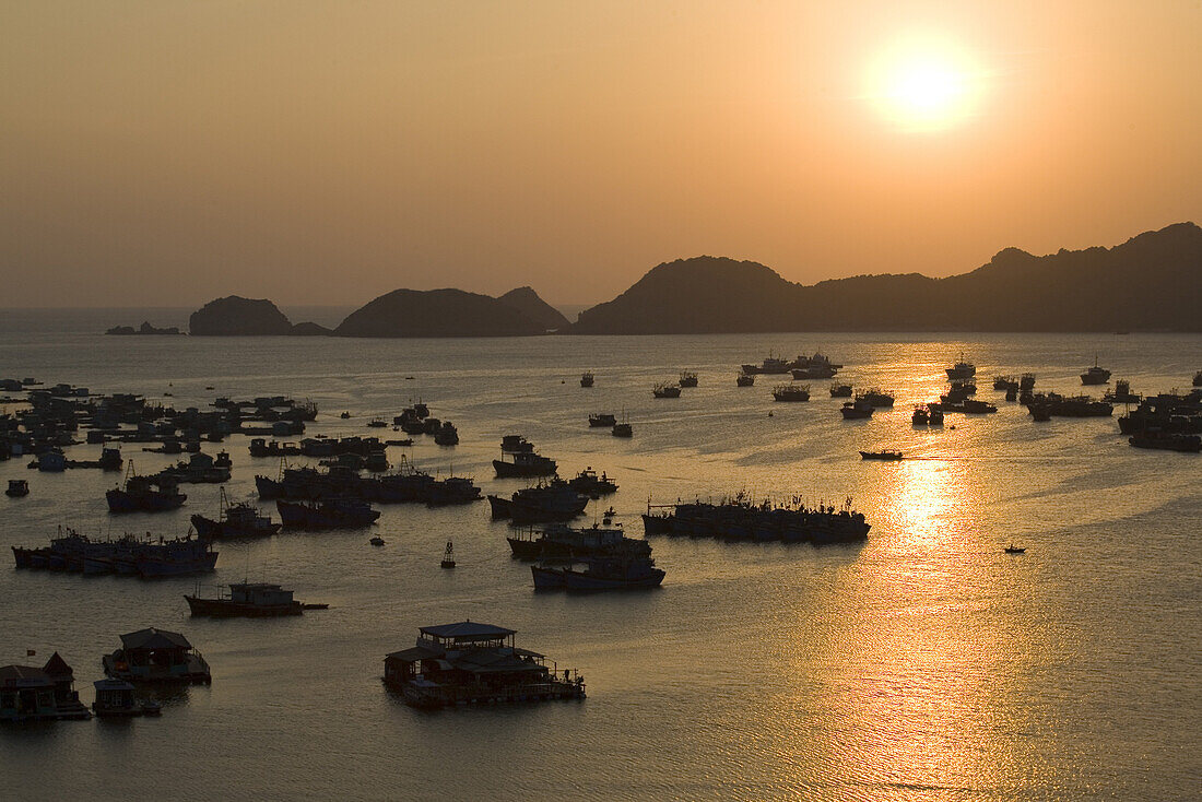
{"label": "hazy orange sky with glowing sun above the dark hills", "polygon": [[1202,222],[1202,4],[6,0],[0,307],[605,301]]}

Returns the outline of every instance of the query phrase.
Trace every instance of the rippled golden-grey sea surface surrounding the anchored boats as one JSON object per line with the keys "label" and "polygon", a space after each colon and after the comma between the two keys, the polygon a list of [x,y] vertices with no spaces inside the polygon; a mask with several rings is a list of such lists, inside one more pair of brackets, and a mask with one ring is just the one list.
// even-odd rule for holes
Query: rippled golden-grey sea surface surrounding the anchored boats
{"label": "rippled golden-grey sea surface surrounding the anchored boats", "polygon": [[[287,310],[294,320],[304,319]],[[89,317],[88,315],[91,315]],[[317,316],[314,316],[317,317]],[[334,323],[329,311],[319,322]],[[321,409],[310,434],[379,434],[374,416],[422,399],[462,442],[389,448],[486,493],[501,435],[523,434],[565,475],[593,467],[642,536],[648,501],[843,501],[867,542],[725,543],[653,536],[654,592],[535,594],[529,565],[488,505],[383,506],[371,531],[290,533],[222,543],[207,586],[281,582],[328,611],[276,620],[191,619],[192,578],[139,581],[0,565],[0,664],[59,650],[91,701],[100,658],[144,626],[183,631],[212,687],[160,719],[0,727],[0,797],[194,800],[1188,800],[1202,788],[1202,457],[1130,447],[1115,418],[1034,423],[995,374],[1076,392],[1095,354],[1136,392],[1186,388],[1198,335],[776,334],[375,340],[102,337],[119,323],[180,325],[141,310],[0,313],[0,376],[138,392],[175,406],[290,394]],[[81,322],[83,321],[83,322]],[[845,422],[826,381],[780,404],[778,379],[734,385],[772,350],[822,351],[857,387],[897,392],[892,411]],[[944,368],[977,364],[996,415],[915,428]],[[596,372],[596,386],[579,374]],[[696,370],[700,386],[654,400]],[[213,386],[213,390],[206,390]],[[163,393],[172,396],[165,398]],[[1093,390],[1099,394],[1099,390]],[[339,412],[349,411],[350,420]],[[589,429],[629,416],[635,438]],[[389,430],[385,433],[391,435]],[[393,435],[401,436],[401,435]],[[230,438],[232,498],[272,459]],[[859,450],[900,448],[900,463]],[[123,446],[138,473],[173,457]],[[77,446],[73,458],[99,453]],[[216,486],[188,504],[112,517],[115,474],[0,463],[0,548],[85,533],[182,535],[215,517]],[[264,509],[268,509],[264,505]],[[368,545],[371,534],[387,541]],[[458,566],[441,570],[447,540]],[[1004,553],[1007,543],[1027,547]],[[8,558],[5,557],[5,560]],[[212,587],[207,588],[209,592]],[[577,667],[579,702],[422,712],[388,693],[383,655],[417,628],[470,618]],[[25,658],[26,649],[37,652]]]}

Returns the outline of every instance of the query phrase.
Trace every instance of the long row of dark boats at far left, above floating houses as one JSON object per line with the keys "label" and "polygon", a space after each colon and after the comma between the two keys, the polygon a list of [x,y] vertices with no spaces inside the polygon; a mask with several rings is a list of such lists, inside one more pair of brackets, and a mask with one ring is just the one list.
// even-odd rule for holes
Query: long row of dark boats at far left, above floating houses
{"label": "long row of dark boats at far left, above floating houses", "polygon": [[198,537],[93,540],[66,529],[41,548],[12,547],[18,569],[154,578],[212,571],[218,552]]}

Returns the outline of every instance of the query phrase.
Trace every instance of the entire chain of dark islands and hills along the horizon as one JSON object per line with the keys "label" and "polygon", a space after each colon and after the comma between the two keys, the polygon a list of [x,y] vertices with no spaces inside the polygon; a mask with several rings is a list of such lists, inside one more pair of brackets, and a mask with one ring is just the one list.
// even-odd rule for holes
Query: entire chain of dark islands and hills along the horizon
{"label": "entire chain of dark islands and hills along the horizon", "polygon": [[[531,337],[834,331],[1202,331],[1202,228],[1179,222],[1114,248],[1034,256],[1017,248],[960,275],[857,275],[795,284],[758,262],[696,256],[664,262],[572,323],[530,287],[500,297],[393,290],[333,329],[292,323],[267,299],[216,298],[189,333],[332,337]],[[179,333],[143,323],[109,334]]]}

